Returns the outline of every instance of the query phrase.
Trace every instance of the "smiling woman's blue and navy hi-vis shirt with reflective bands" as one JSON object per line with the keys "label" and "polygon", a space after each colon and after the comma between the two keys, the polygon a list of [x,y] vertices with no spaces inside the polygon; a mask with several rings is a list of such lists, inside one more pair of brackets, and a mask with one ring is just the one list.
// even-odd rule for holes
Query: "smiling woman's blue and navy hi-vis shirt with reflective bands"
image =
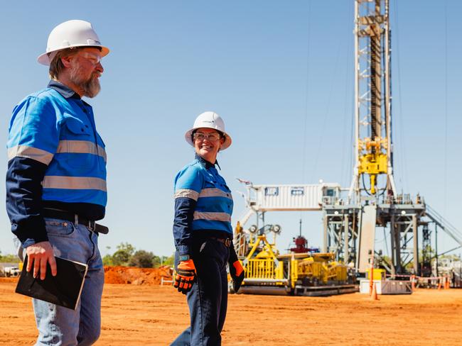
{"label": "smiling woman's blue and navy hi-vis shirt with reflective bands", "polygon": [[181,255],[191,254],[191,237],[212,231],[232,238],[232,195],[215,164],[195,155],[175,178],[173,237]]}

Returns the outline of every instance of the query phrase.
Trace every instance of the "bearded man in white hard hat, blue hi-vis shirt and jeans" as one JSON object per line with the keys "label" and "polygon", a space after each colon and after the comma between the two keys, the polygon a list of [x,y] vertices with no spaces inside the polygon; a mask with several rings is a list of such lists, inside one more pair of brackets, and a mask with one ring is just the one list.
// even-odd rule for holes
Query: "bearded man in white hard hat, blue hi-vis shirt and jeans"
{"label": "bearded man in white hard hat, blue hi-vis shirt and jeans", "polygon": [[[92,345],[100,336],[104,272],[95,224],[107,201],[106,153],[92,107],[109,50],[86,21],[66,21],[48,37],[38,62],[49,65],[46,89],[23,99],[9,126],[6,209],[28,256],[26,270],[57,274],[55,257],[88,264],[73,311],[33,299],[36,345]],[[47,265],[51,270],[47,272]]]}

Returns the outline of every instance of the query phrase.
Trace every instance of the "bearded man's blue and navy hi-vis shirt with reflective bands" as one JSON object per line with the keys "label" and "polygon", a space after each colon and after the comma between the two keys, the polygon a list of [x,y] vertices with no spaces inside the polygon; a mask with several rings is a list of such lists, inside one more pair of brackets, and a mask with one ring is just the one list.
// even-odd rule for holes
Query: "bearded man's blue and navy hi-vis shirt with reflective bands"
{"label": "bearded man's blue and navy hi-vis shirt with reflective bands", "polygon": [[106,151],[92,107],[68,86],[23,99],[9,126],[6,211],[24,247],[48,240],[43,208],[104,218]]}

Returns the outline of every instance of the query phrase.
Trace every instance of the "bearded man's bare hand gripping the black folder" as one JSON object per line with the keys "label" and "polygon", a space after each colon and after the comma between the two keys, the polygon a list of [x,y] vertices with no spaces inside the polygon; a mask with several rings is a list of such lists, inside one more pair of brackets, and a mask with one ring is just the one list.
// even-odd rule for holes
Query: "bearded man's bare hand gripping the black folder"
{"label": "bearded man's bare hand gripping the black folder", "polygon": [[45,279],[46,264],[50,263],[51,274],[53,277],[58,272],[56,269],[55,255],[50,242],[37,242],[34,245],[26,247],[27,267],[26,271],[30,272],[33,266],[33,277],[37,277],[40,272],[40,279]]}

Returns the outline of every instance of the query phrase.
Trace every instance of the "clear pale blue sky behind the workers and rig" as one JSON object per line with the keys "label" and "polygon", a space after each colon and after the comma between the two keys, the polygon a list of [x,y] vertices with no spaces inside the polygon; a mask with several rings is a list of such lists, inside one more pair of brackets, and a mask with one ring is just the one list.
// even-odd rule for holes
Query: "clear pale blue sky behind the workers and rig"
{"label": "clear pale blue sky behind the workers and rig", "polygon": [[[420,193],[458,225],[462,3],[390,3],[397,189]],[[173,177],[193,159],[183,134],[203,111],[219,113],[232,135],[218,160],[234,192],[233,225],[244,211],[236,178],[349,186],[353,0],[9,1],[0,12],[0,142],[16,103],[48,83],[36,57],[70,19],[92,22],[111,49],[89,101],[108,155],[103,254],[130,242],[171,255]],[[300,218],[310,244],[322,245],[321,213],[268,213],[282,226],[281,249]],[[0,251],[13,252],[6,212],[0,225]],[[455,246],[440,238],[441,250]]]}

